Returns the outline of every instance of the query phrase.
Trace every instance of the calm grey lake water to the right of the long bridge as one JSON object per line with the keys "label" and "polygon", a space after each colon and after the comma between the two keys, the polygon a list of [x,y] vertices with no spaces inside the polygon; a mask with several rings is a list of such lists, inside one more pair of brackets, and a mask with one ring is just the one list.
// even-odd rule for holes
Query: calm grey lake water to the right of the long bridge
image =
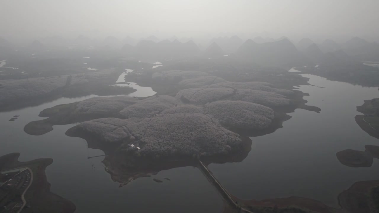
{"label": "calm grey lake water to the right of the long bridge", "polygon": [[[301,86],[309,93],[307,105],[320,113],[295,110],[276,132],[251,138],[252,150],[241,163],[211,164],[208,168],[233,195],[242,199],[299,196],[338,207],[337,196],[353,183],[379,179],[379,161],[370,168],[342,165],[336,153],[365,150],[379,140],[364,132],[354,117],[363,100],[379,97],[377,88],[362,88],[302,74],[315,86]],[[324,88],[319,88],[324,87]]]}

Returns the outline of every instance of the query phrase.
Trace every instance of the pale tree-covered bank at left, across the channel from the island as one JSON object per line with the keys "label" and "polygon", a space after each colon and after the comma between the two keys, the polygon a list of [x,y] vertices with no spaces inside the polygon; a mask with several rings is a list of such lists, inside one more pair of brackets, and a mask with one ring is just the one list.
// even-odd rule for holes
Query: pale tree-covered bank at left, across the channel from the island
{"label": "pale tree-covered bank at left, across the channel from the island", "polygon": [[110,86],[118,76],[114,69],[75,75],[22,80],[0,80],[0,111],[40,105],[61,97],[130,94],[130,87]]}

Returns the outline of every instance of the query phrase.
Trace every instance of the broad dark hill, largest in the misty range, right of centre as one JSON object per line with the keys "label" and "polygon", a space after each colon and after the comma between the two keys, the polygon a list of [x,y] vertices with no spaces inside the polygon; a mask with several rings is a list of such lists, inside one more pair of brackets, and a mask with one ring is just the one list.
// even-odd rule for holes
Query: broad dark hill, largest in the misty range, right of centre
{"label": "broad dark hill, largest in the misty range, right of centre", "polygon": [[248,39],[236,51],[236,55],[262,66],[293,67],[307,62],[288,39],[262,44]]}

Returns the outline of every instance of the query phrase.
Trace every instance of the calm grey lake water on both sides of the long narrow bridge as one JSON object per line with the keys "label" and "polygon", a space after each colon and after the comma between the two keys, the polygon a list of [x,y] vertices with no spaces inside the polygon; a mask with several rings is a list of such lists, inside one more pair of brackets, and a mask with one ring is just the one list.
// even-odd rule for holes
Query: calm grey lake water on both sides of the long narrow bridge
{"label": "calm grey lake water on both sides of the long narrow bridge", "polygon": [[[315,86],[301,86],[299,90],[310,94],[305,97],[307,104],[321,108],[321,113],[297,109],[283,128],[252,138],[252,150],[241,163],[210,164],[210,170],[233,195],[242,199],[302,196],[336,207],[337,195],[354,182],[379,179],[377,159],[370,168],[350,168],[335,156],[344,149],[379,145],[379,140],[361,130],[354,120],[360,114],[356,106],[379,97],[377,88],[302,75]],[[20,152],[21,161],[53,158],[46,169],[51,191],[74,202],[77,212],[222,211],[221,197],[197,168],[161,171],[118,188],[104,171],[103,157],[87,159],[103,152],[88,149],[85,140],[64,134],[75,124],[55,125],[53,131],[41,136],[23,132],[28,122],[43,119],[38,117],[43,109],[89,97],[94,96],[61,98],[0,113],[0,155]],[[8,121],[14,115],[20,117]]]}

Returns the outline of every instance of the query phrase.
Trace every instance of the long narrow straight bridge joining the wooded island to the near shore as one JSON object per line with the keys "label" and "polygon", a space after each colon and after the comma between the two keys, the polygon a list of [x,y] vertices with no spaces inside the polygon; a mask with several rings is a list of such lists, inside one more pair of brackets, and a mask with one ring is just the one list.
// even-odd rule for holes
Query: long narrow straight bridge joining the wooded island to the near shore
{"label": "long narrow straight bridge joining the wooded island to the near shore", "polygon": [[213,176],[212,172],[209,171],[207,166],[204,165],[203,162],[199,160],[199,169],[200,171],[207,177],[208,181],[212,183],[213,186],[216,187],[216,189],[221,194],[222,198],[226,200],[226,202],[229,203],[230,206],[235,208],[238,212],[246,212],[246,213],[253,213],[252,211],[247,210],[246,208],[240,207],[236,202],[233,200],[232,196],[229,194],[229,192],[224,188],[224,186],[221,185],[220,182],[216,179],[215,176]]}

